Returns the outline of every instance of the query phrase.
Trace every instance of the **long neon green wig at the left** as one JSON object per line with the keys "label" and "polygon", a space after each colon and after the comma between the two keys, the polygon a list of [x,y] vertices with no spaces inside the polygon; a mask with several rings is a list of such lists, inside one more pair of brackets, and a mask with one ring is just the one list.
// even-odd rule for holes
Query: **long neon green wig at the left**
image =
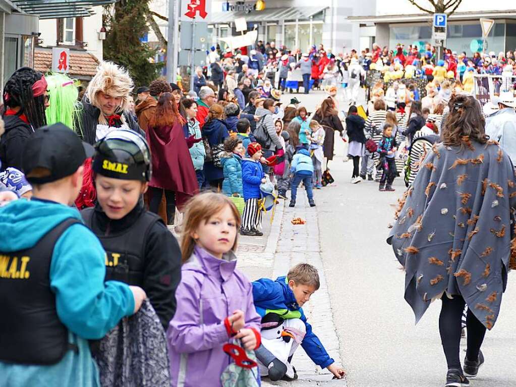
{"label": "long neon green wig at the left", "polygon": [[79,91],[75,82],[64,74],[54,73],[45,77],[50,95],[50,106],[46,108],[46,122],[52,125],[62,122],[74,132],[80,130],[79,110],[77,101]]}

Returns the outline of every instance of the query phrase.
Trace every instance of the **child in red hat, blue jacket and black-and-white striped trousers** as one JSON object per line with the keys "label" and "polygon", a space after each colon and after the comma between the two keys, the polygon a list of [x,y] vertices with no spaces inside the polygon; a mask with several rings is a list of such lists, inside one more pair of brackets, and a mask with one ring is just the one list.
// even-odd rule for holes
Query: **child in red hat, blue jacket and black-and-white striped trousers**
{"label": "child in red hat, blue jacket and black-and-white striped trousers", "polygon": [[262,225],[262,211],[258,206],[262,197],[260,184],[265,183],[265,174],[262,164],[262,146],[257,142],[251,142],[247,147],[249,157],[242,160],[242,187],[244,192],[244,214],[242,215],[242,227],[240,235],[262,236],[259,230]]}

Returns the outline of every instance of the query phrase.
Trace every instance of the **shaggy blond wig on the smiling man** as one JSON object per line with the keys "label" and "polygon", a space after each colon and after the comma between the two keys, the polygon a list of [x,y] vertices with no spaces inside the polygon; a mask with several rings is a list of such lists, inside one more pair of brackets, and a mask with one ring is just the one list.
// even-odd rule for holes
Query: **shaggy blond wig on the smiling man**
{"label": "shaggy blond wig on the smiling man", "polygon": [[[115,65],[113,62],[101,62],[97,68],[95,76],[91,79],[86,94],[90,103],[101,108],[97,99],[99,92],[110,95],[112,97],[122,98],[119,110],[127,113],[129,111],[130,101],[129,96],[133,90],[134,84],[131,76],[122,67]],[[125,123],[125,117],[122,115],[122,122]],[[99,117],[99,123],[108,125],[108,122],[103,114]]]}

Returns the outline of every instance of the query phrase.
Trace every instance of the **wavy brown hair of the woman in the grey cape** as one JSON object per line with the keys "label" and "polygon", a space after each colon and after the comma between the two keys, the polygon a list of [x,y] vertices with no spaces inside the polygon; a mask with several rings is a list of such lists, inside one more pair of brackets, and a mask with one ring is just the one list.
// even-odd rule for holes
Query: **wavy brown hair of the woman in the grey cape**
{"label": "wavy brown hair of the woman in the grey cape", "polygon": [[480,103],[471,95],[456,95],[449,102],[450,112],[442,129],[442,139],[446,146],[464,145],[471,147],[471,140],[485,144],[486,120]]}

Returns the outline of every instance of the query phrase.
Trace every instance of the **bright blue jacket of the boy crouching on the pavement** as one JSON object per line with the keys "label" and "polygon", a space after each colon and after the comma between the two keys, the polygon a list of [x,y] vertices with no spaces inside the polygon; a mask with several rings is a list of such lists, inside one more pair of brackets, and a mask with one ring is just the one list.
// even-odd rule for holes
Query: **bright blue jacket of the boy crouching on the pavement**
{"label": "bright blue jacket of the boy crouching on the pavement", "polygon": [[288,287],[286,277],[278,277],[276,281],[269,278],[254,281],[253,299],[256,312],[262,317],[268,313],[277,313],[283,318],[301,319],[307,329],[301,347],[307,352],[310,359],[321,368],[326,368],[334,362],[312,331],[312,326],[308,323],[303,308],[299,307],[294,292]]}

